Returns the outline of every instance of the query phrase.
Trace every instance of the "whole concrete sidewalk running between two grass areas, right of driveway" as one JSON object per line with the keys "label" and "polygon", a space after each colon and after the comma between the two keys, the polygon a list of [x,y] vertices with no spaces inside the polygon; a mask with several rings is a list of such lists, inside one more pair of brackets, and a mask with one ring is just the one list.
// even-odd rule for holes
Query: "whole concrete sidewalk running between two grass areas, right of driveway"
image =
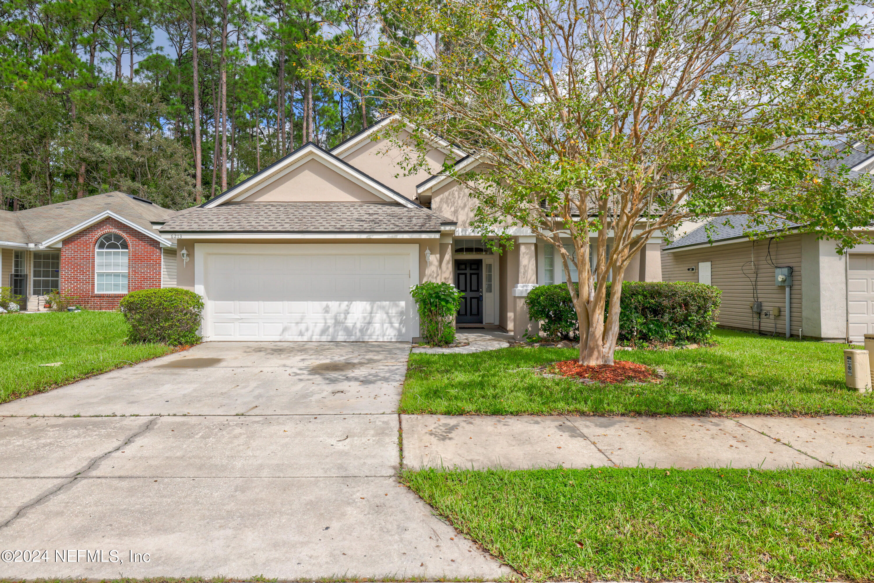
{"label": "whole concrete sidewalk running between two grass areas, right of driveway", "polygon": [[871,417],[401,415],[407,468],[871,468]]}

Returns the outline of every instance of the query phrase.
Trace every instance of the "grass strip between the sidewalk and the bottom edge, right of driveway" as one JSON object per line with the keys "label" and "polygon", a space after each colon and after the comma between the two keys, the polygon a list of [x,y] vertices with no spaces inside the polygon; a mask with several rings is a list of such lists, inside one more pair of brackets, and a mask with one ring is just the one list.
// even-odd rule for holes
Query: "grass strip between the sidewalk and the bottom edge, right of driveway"
{"label": "grass strip between the sidewalk and the bottom edge, right of driveway", "polygon": [[534,580],[853,580],[874,573],[874,473],[592,468],[406,472]]}

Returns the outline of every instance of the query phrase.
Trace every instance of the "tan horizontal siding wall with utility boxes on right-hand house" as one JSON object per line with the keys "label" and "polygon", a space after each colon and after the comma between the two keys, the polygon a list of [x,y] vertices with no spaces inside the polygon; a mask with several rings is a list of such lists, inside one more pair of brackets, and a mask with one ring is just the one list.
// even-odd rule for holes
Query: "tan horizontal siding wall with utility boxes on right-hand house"
{"label": "tan horizontal siding wall with utility boxes on right-hand house", "polygon": [[[774,268],[766,260],[767,241],[743,241],[730,245],[707,246],[690,251],[662,252],[663,281],[698,281],[697,266],[701,261],[711,261],[712,285],[722,290],[722,307],[719,310],[719,325],[743,330],[757,330],[758,316],[753,318],[750,302],[753,302],[753,281],[756,275],[749,263],[755,260],[759,274],[759,301],[763,310],[780,308],[777,317],[777,334],[786,334],[786,290],[774,285]],[[771,243],[771,260],[780,267],[792,267],[792,323],[794,335],[801,326],[801,236],[787,237]],[[746,264],[746,267],[744,265]],[[688,271],[696,267],[696,271]],[[742,271],[743,267],[743,271]],[[773,333],[773,319],[762,318],[762,332]]]}

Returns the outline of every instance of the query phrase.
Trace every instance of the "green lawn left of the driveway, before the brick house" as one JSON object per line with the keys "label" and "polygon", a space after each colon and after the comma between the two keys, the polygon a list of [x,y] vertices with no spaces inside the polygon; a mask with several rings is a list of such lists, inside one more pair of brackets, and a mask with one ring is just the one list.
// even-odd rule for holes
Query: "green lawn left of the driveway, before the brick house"
{"label": "green lawn left of the driveway, before the brick house", "polygon": [[[160,357],[163,344],[124,344],[118,312],[0,316],[0,403],[66,385],[126,364]],[[38,364],[63,363],[59,366]]]}

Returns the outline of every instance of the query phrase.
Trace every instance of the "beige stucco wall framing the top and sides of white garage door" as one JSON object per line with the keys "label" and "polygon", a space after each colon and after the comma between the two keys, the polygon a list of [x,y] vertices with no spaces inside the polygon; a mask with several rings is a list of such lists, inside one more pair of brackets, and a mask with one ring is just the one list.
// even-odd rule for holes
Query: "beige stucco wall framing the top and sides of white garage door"
{"label": "beige stucco wall framing the top and sides of white garage door", "polygon": [[[419,245],[419,281],[440,281],[440,239],[177,239],[177,286],[179,288],[194,289],[194,250],[201,243],[225,243],[225,244],[323,244],[323,245],[360,245],[362,251],[366,251],[368,245]],[[183,266],[182,250],[189,253],[188,264]],[[425,260],[425,250],[431,250],[431,260]]]}

